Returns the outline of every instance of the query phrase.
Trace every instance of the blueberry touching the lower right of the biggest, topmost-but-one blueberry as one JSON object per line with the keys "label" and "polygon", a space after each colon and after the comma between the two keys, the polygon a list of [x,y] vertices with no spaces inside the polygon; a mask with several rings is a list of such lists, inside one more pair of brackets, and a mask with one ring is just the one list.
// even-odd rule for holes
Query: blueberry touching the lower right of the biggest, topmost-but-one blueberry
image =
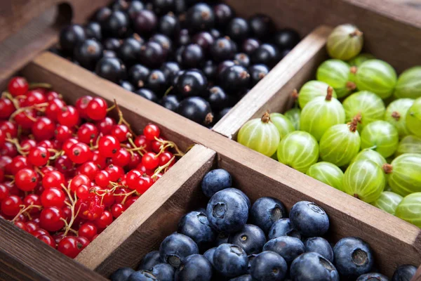
{"label": "blueberry touching the lower right of the biggest, topmost-but-one blueberry", "polygon": [[266,243],[266,237],[258,226],[246,224],[241,230],[229,235],[228,243],[243,248],[247,254],[258,254]]}

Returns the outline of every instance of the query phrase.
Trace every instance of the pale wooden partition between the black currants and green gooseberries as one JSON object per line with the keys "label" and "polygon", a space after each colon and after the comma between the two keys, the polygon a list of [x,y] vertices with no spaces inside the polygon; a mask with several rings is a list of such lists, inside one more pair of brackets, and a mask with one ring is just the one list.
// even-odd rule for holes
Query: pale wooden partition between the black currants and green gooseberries
{"label": "pale wooden partition between the black currants and green gooseberries", "polygon": [[303,67],[312,70],[314,65],[319,64],[319,53],[324,52],[326,39],[330,32],[330,27],[321,26],[305,37],[227,115],[213,126],[213,131],[220,133],[222,136],[227,136],[227,138],[235,138],[236,132],[250,118],[255,117],[256,112],[272,110],[272,108],[267,107],[269,100],[276,97],[270,103],[272,107],[286,104],[290,95],[279,96],[277,93],[291,79],[299,79],[300,77],[295,76]]}

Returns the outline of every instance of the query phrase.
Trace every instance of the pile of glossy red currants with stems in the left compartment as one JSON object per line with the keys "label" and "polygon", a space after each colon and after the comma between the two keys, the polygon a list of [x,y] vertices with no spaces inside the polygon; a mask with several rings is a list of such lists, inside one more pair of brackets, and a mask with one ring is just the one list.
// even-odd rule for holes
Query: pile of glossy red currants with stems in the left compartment
{"label": "pile of glossy red currants with stems in the left compartment", "polygon": [[0,217],[74,258],[182,155],[154,124],[135,136],[115,101],[67,105],[14,77],[0,98]]}

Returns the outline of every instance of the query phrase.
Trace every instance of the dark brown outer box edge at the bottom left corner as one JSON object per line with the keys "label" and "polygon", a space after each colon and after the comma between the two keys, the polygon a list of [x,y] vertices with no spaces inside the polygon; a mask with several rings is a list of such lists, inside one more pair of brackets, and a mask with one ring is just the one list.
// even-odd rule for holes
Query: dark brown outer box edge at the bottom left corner
{"label": "dark brown outer box edge at the bottom left corner", "polygon": [[106,280],[0,218],[0,280]]}

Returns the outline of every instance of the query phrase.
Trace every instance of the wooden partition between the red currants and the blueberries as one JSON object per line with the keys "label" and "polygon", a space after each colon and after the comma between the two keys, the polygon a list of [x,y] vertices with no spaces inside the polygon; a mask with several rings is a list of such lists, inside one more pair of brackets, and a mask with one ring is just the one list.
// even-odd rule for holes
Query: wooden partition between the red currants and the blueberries
{"label": "wooden partition between the red currants and the blueberries", "polygon": [[136,266],[156,249],[173,224],[189,207],[196,185],[213,165],[215,152],[202,145],[192,150],[152,185],[123,215],[84,249],[76,261],[109,275],[122,266]]}

